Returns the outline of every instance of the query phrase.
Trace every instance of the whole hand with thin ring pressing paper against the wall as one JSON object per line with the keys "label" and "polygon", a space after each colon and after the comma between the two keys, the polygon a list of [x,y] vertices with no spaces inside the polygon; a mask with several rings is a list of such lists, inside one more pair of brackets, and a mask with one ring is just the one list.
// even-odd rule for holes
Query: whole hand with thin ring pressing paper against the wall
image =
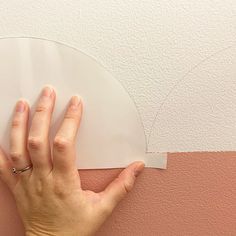
{"label": "whole hand with thin ring pressing paper against the wall", "polygon": [[[82,102],[73,96],[64,120],[49,142],[55,91],[45,87],[29,131],[29,106],[18,101],[10,135],[10,158],[0,151],[0,177],[12,191],[26,235],[93,235],[132,189],[144,163],[130,164],[104,191],[81,189],[76,167],[76,136]],[[12,167],[32,168],[18,174]]]}

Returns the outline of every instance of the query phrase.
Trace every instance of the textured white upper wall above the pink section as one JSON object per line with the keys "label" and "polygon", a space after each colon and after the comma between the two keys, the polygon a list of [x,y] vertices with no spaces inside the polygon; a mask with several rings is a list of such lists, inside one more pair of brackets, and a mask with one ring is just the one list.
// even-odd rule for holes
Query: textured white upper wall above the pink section
{"label": "textured white upper wall above the pink section", "polygon": [[[149,136],[157,111],[177,81],[211,55],[227,47],[235,48],[236,2],[5,0],[0,2],[0,36],[32,36],[55,40],[74,46],[97,59],[127,88],[137,104],[146,135]],[[235,49],[227,53],[224,63],[230,63],[231,66],[227,67],[230,72],[227,81],[222,82],[221,88],[226,84],[225,88],[235,85]],[[214,64],[215,62],[211,64],[211,74],[221,66],[220,60],[217,61],[218,64]],[[221,81],[219,76],[222,76],[224,68],[218,71],[215,80]],[[200,68],[197,73],[202,76],[206,72],[202,74]],[[209,86],[212,78],[206,78]],[[186,86],[192,88],[193,84]],[[183,91],[186,92],[186,88]],[[217,91],[212,94],[216,96]],[[183,94],[176,93],[176,96],[177,100],[182,102]],[[211,101],[215,100],[214,96],[210,98]],[[192,102],[196,102],[195,105],[199,104],[196,98],[197,96],[191,97]],[[172,101],[175,100],[172,98]],[[150,148],[154,151],[205,150],[208,148],[208,145],[205,145],[208,137],[202,137],[208,135],[213,137],[213,147],[210,146],[210,150],[235,149],[236,145],[232,141],[230,145],[224,145],[233,138],[236,140],[236,127],[232,126],[235,105],[231,104],[230,108],[227,108],[228,102],[235,101],[235,96],[230,93],[227,99],[220,101],[223,102],[217,101],[216,104],[220,108],[217,110],[213,107],[212,113],[205,108],[198,111],[200,114],[207,112],[206,119],[215,117],[211,120],[212,127],[220,129],[219,132],[214,133],[214,129],[208,129],[205,133],[196,133],[198,125],[201,125],[200,130],[204,130],[206,123],[198,124],[198,118],[191,123],[193,116],[185,114],[183,124],[161,123],[165,125],[164,131],[160,130],[160,125],[155,124]],[[187,105],[183,103],[183,106],[186,108]],[[170,119],[173,115],[180,120],[179,111],[184,108],[183,106],[177,106],[177,115],[167,110],[167,120],[173,122]],[[165,116],[162,119],[165,119]],[[222,119],[228,119],[225,126]],[[217,123],[218,120],[220,122]],[[189,127],[192,129],[189,130]],[[186,132],[190,132],[188,142],[182,145],[181,138],[184,139],[183,134]],[[171,136],[173,138],[168,142]],[[221,142],[217,141],[219,139]],[[193,143],[196,145],[192,145]]]}

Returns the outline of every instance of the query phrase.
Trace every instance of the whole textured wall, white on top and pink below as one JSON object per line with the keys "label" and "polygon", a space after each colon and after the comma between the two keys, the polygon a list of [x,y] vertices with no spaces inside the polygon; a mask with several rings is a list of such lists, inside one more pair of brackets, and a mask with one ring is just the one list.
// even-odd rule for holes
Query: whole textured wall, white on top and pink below
{"label": "whole textured wall, white on top and pink below", "polygon": [[[222,84],[217,83],[216,87],[226,88],[226,84],[232,84],[236,78],[235,0],[2,0],[0,16],[0,37],[55,40],[73,46],[101,63],[126,87],[135,101],[145,134],[152,138],[152,151],[158,151],[160,145],[170,149],[175,147],[172,150],[178,151],[175,145],[185,144],[185,141],[187,145],[181,150],[186,150],[190,144],[193,146],[189,151],[202,151],[203,147],[209,151],[219,146],[225,151],[234,150],[236,101],[231,95],[235,94],[235,87],[232,87],[233,93],[216,90],[216,94],[221,92],[221,97],[215,107],[211,103],[195,104],[196,108],[209,105],[209,110],[199,113],[204,119],[198,117],[195,125],[209,121],[210,126],[207,129],[202,126],[199,135],[211,134],[209,138],[214,141],[214,146],[209,146],[213,142],[208,137],[200,139],[195,136],[198,129],[185,122],[182,126],[185,134],[181,133],[181,128],[174,129],[168,135],[176,139],[160,144],[160,133],[156,131],[161,126],[154,125],[154,120],[170,89],[186,75],[191,76],[190,72],[197,71],[191,78],[201,78],[200,81],[219,79],[226,71],[224,68],[228,68],[218,66],[224,58],[219,54],[223,51],[227,54],[224,65],[231,67],[230,72],[226,71],[227,79]],[[212,66],[215,61],[211,59],[215,55],[219,55],[216,57],[219,64]],[[208,59],[210,66],[204,64]],[[205,87],[200,85],[204,90],[210,83]],[[188,84],[186,86],[183,91]],[[177,98],[181,101],[182,97]],[[194,101],[192,99],[189,101]],[[176,101],[175,98],[172,101]],[[221,104],[220,101],[231,102]],[[191,104],[188,106],[190,108]],[[211,110],[213,112],[209,113]],[[173,111],[178,112],[178,106]],[[184,114],[188,117],[192,113]],[[173,116],[172,113],[167,115]],[[165,121],[163,117],[162,121]],[[230,122],[224,123],[226,120]],[[163,137],[166,135],[165,132],[162,134]],[[196,145],[199,150],[194,149],[195,142],[192,141],[196,137],[200,144],[206,144]],[[169,154],[168,169],[145,169],[134,190],[116,208],[98,235],[236,235],[235,170],[235,152]],[[119,172],[81,171],[83,186],[101,190]],[[0,193],[0,235],[23,236],[14,201],[2,182]]]}

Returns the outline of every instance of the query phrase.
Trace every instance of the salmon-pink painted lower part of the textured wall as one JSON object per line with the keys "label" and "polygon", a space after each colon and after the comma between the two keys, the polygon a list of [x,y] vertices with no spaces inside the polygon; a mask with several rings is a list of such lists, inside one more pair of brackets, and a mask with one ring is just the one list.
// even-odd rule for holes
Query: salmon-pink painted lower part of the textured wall
{"label": "salmon-pink painted lower part of the textured wall", "polygon": [[[81,171],[99,191],[120,170]],[[23,236],[14,201],[0,182],[0,236]],[[236,153],[170,154],[167,170],[145,169],[97,236],[236,235]]]}

